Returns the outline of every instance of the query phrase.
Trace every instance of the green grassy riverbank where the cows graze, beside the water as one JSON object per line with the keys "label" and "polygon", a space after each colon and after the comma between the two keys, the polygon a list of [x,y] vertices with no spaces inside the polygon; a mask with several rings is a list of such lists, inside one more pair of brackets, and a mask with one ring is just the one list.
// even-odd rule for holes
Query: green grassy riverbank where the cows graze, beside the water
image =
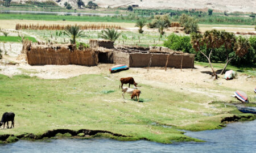
{"label": "green grassy riverbank where the cows graze, beside the water", "polygon": [[[15,113],[15,128],[1,129],[0,135],[90,129],[131,136],[99,134],[120,140],[199,141],[177,129],[220,129],[225,117],[236,114],[246,120],[251,116],[236,112],[235,107],[208,104],[210,97],[148,84],[139,84],[141,103],[129,100],[128,95],[123,103],[119,80],[104,74],[57,80],[0,75],[0,84],[1,114]],[[249,120],[253,118],[255,116]]]}

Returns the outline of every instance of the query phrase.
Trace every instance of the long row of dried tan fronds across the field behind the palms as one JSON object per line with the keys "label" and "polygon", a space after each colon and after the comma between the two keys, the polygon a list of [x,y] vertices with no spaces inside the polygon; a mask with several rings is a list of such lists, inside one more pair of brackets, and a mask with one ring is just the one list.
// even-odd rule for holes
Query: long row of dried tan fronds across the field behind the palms
{"label": "long row of dried tan fronds across the field behind the palms", "polygon": [[[122,29],[119,25],[106,25],[106,24],[84,24],[84,25],[77,25],[81,30],[97,30],[97,29]],[[39,24],[16,24],[16,30],[26,29],[26,30],[64,30],[66,27],[72,25],[59,25],[59,24],[52,24],[52,25],[39,25]]]}

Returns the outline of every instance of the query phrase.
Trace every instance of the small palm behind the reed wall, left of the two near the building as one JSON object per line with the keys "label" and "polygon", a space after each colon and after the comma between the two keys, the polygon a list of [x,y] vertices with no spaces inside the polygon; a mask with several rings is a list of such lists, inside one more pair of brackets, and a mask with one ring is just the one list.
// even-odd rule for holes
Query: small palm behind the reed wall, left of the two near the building
{"label": "small palm behind the reed wall, left of the two near the building", "polygon": [[71,37],[71,44],[76,44],[76,38],[85,37],[84,33],[80,31],[79,26],[68,26],[65,28],[64,35]]}

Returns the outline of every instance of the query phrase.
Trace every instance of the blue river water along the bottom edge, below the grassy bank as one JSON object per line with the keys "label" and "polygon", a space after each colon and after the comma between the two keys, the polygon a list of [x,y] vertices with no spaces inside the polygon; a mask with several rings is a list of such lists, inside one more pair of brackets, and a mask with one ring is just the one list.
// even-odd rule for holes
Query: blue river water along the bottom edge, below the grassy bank
{"label": "blue river water along the bottom edge, below the grassy bank", "polygon": [[0,145],[0,152],[256,152],[256,120],[228,124],[220,130],[187,131],[203,143],[181,142],[164,145],[150,141],[122,142],[112,139],[53,139],[18,141]]}

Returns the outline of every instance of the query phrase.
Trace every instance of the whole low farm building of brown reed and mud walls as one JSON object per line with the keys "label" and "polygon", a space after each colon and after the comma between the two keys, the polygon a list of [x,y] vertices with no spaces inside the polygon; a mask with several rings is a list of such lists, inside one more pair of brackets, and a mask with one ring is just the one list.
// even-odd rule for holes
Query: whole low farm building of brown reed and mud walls
{"label": "whole low farm building of brown reed and mud walls", "polygon": [[[30,65],[85,65],[98,63],[126,64],[129,67],[191,68],[195,54],[178,52],[164,47],[114,46],[106,40],[90,40],[91,48],[74,48],[71,44],[23,44],[23,53]],[[182,63],[182,65],[181,65]]]}

